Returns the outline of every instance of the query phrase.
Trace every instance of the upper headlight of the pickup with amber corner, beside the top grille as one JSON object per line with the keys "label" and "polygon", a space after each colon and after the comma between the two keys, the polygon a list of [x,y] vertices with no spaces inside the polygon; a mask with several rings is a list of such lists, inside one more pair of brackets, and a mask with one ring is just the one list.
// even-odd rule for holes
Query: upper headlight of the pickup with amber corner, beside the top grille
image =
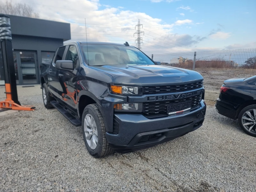
{"label": "upper headlight of the pickup with amber corner, beside the top grille", "polygon": [[110,90],[123,95],[142,95],[142,87],[111,85]]}

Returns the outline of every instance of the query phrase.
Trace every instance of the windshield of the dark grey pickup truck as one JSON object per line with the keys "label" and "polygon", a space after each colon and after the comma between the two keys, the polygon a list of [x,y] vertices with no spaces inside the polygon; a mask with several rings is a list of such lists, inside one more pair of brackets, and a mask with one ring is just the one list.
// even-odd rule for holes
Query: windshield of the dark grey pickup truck
{"label": "windshield of the dark grey pickup truck", "polygon": [[[155,65],[145,54],[135,47],[108,44],[81,45],[84,60],[92,66],[102,65]],[[89,62],[88,62],[89,58]]]}

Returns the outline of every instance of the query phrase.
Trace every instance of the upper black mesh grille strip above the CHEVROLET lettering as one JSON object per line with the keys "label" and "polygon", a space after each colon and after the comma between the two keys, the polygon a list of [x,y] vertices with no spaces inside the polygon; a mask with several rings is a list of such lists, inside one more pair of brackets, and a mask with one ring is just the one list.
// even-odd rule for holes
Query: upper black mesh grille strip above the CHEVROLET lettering
{"label": "upper black mesh grille strip above the CHEVROLET lettering", "polygon": [[184,92],[203,87],[203,81],[196,81],[186,84],[164,85],[164,86],[145,86],[143,87],[143,94],[159,94],[159,93],[173,93]]}

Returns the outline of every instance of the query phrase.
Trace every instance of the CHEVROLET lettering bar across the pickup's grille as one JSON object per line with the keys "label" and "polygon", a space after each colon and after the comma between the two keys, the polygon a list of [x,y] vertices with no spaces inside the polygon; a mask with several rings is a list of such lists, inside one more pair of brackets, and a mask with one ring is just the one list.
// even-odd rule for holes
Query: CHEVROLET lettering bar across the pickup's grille
{"label": "CHEVROLET lettering bar across the pickup's grille", "polygon": [[192,96],[197,96],[203,93],[203,90],[188,92],[188,93],[180,93],[180,94],[171,94],[171,95],[156,95],[149,96],[148,101],[164,101],[164,100],[176,100],[176,99],[184,99]]}

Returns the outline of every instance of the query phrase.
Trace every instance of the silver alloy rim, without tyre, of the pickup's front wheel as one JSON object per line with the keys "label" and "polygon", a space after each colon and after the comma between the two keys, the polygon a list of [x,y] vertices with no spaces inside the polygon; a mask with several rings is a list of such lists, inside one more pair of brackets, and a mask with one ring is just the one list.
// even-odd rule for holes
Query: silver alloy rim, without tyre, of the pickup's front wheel
{"label": "silver alloy rim, without tyre, of the pickup's front wheel", "polygon": [[96,149],[98,144],[98,130],[94,118],[90,114],[86,114],[84,118],[84,133],[89,147]]}

